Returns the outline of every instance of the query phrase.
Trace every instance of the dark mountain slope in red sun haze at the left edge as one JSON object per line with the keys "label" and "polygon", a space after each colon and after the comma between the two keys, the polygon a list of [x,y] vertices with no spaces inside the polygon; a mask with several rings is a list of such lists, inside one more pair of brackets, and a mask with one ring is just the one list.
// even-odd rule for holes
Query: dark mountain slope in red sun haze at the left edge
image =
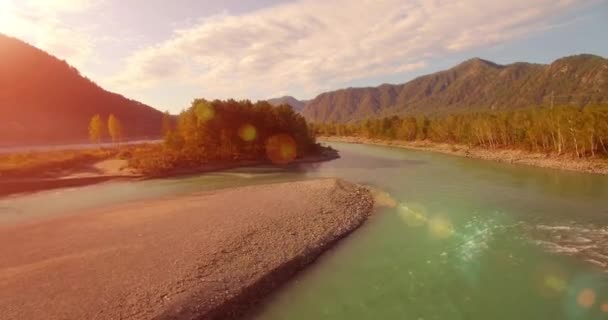
{"label": "dark mountain slope in red sun haze at the left edge", "polygon": [[116,115],[126,138],[160,135],[160,111],[108,92],[65,61],[0,34],[0,145],[86,141],[97,113]]}

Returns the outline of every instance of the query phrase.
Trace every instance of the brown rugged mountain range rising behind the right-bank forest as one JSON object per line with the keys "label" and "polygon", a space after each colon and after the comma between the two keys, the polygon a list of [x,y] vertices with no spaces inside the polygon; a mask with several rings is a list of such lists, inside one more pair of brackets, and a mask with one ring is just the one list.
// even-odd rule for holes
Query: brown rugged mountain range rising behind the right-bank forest
{"label": "brown rugged mountain range rising behind the right-bank forest", "polygon": [[[553,98],[552,98],[553,95]],[[474,58],[400,85],[320,94],[302,114],[313,122],[348,122],[406,114],[608,104],[608,60],[576,55],[551,64],[499,65]]]}

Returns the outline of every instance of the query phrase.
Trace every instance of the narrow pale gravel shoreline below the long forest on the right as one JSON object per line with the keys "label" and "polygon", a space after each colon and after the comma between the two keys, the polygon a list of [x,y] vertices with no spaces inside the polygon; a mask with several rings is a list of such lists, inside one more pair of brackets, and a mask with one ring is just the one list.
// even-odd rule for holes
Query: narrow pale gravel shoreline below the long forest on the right
{"label": "narrow pale gravel shoreline below the long forest on the right", "polygon": [[608,175],[608,161],[601,159],[576,159],[569,156],[547,155],[513,149],[487,150],[482,148],[470,148],[466,145],[452,145],[447,143],[434,143],[430,141],[387,141],[362,137],[334,136],[318,137],[318,140],[321,142],[344,142],[398,147],[510,164],[522,164],[542,168]]}

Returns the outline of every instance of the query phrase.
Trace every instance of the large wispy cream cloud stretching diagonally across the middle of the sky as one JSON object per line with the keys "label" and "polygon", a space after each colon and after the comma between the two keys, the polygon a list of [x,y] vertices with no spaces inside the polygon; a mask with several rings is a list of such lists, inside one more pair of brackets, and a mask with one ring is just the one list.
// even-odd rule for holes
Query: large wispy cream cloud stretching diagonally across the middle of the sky
{"label": "large wispy cream cloud stretching diagonally across the middle of the sky", "polygon": [[197,85],[207,97],[313,95],[355,79],[422,68],[429,58],[546,29],[586,1],[302,0],[222,14],[134,52],[123,88]]}

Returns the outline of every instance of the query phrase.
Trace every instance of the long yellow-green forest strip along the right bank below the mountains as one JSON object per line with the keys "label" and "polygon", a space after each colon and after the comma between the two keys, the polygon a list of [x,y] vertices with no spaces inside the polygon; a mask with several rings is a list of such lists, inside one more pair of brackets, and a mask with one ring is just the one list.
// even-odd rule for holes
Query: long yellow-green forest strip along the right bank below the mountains
{"label": "long yellow-green forest strip along the right bank below the mountains", "polygon": [[320,136],[511,148],[575,157],[608,156],[608,108],[572,106],[405,116],[357,123],[311,124]]}

